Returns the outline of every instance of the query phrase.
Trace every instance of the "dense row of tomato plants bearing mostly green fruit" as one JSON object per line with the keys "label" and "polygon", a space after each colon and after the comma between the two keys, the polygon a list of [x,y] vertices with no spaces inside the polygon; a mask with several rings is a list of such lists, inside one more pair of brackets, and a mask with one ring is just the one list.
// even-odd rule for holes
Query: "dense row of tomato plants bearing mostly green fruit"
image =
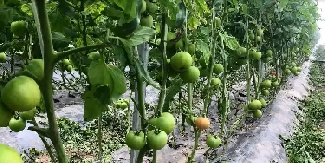
{"label": "dense row of tomato plants bearing mostly green fruit", "polygon": [[[130,162],[140,163],[153,149],[155,163],[168,135],[189,126],[192,163],[202,132],[213,132],[206,143],[217,148],[234,134],[226,126],[238,129],[247,116],[261,118],[289,76],[299,75],[319,17],[311,0],[2,0],[0,16],[0,127],[21,131],[28,120],[28,130],[45,145],[46,137],[51,140],[55,156],[46,149],[53,163],[67,163],[53,73],[63,80],[58,89],[82,93],[84,120],[98,124],[101,163],[103,115],[110,113],[124,113]],[[228,90],[242,82],[247,98],[237,107],[243,112],[230,124]],[[148,85],[159,91],[152,108],[145,100]],[[121,99],[127,89],[129,99]],[[212,99],[219,131],[209,128]],[[48,127],[35,121],[35,107],[46,112]]]}

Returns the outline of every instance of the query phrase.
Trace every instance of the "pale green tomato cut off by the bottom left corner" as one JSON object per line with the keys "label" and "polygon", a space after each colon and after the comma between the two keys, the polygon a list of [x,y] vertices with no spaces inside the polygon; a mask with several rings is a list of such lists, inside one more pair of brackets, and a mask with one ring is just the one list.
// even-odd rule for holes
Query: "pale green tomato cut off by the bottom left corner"
{"label": "pale green tomato cut off by the bottom left corner", "polygon": [[0,163],[23,163],[23,160],[18,151],[6,144],[0,144]]}

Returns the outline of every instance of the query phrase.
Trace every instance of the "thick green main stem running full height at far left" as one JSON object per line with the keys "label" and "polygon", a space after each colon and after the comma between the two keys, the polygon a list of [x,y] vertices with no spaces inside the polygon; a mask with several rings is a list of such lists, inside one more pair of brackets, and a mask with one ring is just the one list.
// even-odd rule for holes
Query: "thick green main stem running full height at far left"
{"label": "thick green main stem running full height at far left", "polygon": [[67,163],[65,156],[65,150],[62,140],[58,133],[58,126],[56,123],[56,117],[54,113],[54,103],[52,95],[52,77],[53,77],[53,44],[52,44],[52,34],[51,27],[48,20],[48,15],[46,11],[46,0],[37,0],[36,6],[38,8],[39,24],[40,30],[44,41],[44,78],[42,79],[40,88],[43,93],[46,114],[49,124],[49,132],[52,144],[56,150],[59,163]]}

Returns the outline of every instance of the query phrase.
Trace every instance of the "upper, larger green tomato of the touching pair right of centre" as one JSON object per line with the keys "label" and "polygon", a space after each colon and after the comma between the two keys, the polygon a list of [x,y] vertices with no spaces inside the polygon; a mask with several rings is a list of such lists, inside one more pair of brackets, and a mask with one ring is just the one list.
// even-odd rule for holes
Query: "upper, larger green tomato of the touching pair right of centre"
{"label": "upper, larger green tomato of the touching pair right of centre", "polygon": [[171,67],[178,72],[188,70],[192,63],[192,56],[188,52],[178,52],[170,58]]}

